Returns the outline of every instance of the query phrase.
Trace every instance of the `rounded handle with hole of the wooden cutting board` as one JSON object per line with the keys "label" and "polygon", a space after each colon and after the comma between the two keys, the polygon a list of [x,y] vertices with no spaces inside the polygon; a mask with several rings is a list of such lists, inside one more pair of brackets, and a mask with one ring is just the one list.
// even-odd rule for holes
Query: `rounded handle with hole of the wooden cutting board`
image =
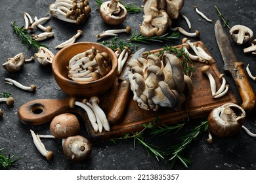
{"label": "rounded handle with hole of the wooden cutting board", "polygon": [[64,112],[72,111],[68,99],[36,99],[18,109],[20,122],[26,125],[41,125]]}

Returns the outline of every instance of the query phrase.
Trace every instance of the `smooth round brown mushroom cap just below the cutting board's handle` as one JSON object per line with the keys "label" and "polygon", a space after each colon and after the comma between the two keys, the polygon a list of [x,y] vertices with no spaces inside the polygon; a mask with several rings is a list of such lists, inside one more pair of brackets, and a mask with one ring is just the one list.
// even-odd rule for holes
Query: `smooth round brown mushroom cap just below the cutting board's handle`
{"label": "smooth round brown mushroom cap just below the cutting board's handle", "polygon": [[80,124],[77,117],[71,113],[64,113],[55,116],[50,124],[50,131],[56,139],[66,139],[77,135]]}

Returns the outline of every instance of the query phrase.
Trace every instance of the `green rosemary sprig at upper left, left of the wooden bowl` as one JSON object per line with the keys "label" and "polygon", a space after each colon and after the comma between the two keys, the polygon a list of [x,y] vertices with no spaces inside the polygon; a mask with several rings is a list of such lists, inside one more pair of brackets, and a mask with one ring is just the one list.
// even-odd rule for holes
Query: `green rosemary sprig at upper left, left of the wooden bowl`
{"label": "green rosemary sprig at upper left, left of the wooden bowl", "polygon": [[16,22],[12,23],[12,29],[13,29],[13,32],[20,37],[20,40],[21,40],[22,44],[24,44],[24,43],[27,44],[28,50],[30,50],[30,48],[33,48],[33,49],[35,49],[35,51],[37,51],[37,50],[39,50],[40,46],[48,48],[44,44],[41,44],[40,42],[35,41],[28,34],[28,31],[24,31],[23,26],[22,27],[18,27],[18,25],[16,25]]}

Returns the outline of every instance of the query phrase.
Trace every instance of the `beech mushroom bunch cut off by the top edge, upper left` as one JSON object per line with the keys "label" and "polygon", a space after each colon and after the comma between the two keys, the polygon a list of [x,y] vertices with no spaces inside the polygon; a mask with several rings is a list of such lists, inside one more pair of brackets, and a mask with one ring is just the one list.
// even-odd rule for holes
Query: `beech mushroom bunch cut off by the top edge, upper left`
{"label": "beech mushroom bunch cut off by the top edge, upper left", "polygon": [[77,25],[84,23],[90,12],[88,0],[56,0],[50,5],[53,17]]}

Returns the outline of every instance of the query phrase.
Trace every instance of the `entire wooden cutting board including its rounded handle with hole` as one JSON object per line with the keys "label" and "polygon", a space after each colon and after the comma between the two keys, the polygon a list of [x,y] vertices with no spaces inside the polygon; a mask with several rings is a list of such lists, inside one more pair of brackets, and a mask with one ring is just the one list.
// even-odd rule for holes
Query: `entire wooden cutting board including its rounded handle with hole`
{"label": "entire wooden cutting board including its rounded handle with hole", "polygon": [[[202,42],[196,43],[198,43],[199,46],[209,54]],[[152,50],[150,52],[158,53],[159,50]],[[87,132],[93,141],[106,141],[115,137],[122,137],[127,133],[140,131],[144,128],[142,125],[149,122],[158,126],[187,121],[188,118],[194,119],[207,117],[213,108],[219,107],[224,103],[237,103],[237,99],[231,90],[229,90],[224,97],[219,99],[211,98],[209,79],[206,75],[203,75],[200,72],[203,65],[205,65],[205,63],[200,62],[195,62],[193,65],[196,69],[192,74],[194,92],[192,93],[192,97],[188,101],[187,106],[182,105],[181,110],[178,111],[169,107],[160,107],[158,111],[144,110],[137,105],[137,102],[133,101],[133,92],[130,92],[129,95],[127,95],[127,97],[129,97],[129,103],[125,109],[123,119],[119,124],[110,126],[110,131],[103,130],[102,133],[95,133],[85,112],[81,110],[80,107],[70,108],[69,99],[37,99],[30,101],[19,108],[18,117],[23,124],[41,125],[51,122],[54,116],[57,116],[58,114],[62,114],[64,112],[76,113],[81,116],[81,120],[85,122]],[[211,67],[210,72],[215,78],[217,89],[219,89],[221,86],[221,81],[218,78],[220,73],[214,59],[211,59],[209,66]],[[110,107],[114,102],[117,87],[118,82],[116,79],[114,86],[110,88],[107,93],[99,96],[99,106],[106,114],[108,114]]]}

